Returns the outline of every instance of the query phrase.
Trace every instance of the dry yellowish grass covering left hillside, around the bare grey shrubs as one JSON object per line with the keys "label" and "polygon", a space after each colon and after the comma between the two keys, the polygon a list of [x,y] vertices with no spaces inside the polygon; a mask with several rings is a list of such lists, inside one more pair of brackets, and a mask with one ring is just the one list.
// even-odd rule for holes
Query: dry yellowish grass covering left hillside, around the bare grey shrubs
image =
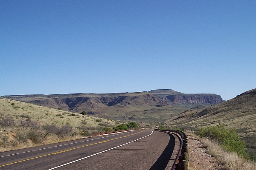
{"label": "dry yellowish grass covering left hillside, around the bare grey shrubs", "polygon": [[[88,130],[90,135],[98,133],[98,129],[105,127],[105,125],[108,125],[108,127],[118,125],[118,122],[110,119],[99,119],[94,116],[0,98],[0,121],[6,117],[12,119],[15,125],[10,127],[0,126],[0,152],[79,139],[83,138],[79,136],[79,132],[82,130]],[[22,120],[26,121],[26,119],[30,119],[40,126],[40,129],[36,130],[37,133],[43,134],[42,125],[55,124],[57,127],[65,125],[73,127],[73,135],[59,137],[51,133],[45,138],[40,138],[38,142],[33,142],[26,136],[28,131],[31,130],[29,128],[23,129],[20,126],[20,122]],[[96,122],[97,119],[100,121]]]}

